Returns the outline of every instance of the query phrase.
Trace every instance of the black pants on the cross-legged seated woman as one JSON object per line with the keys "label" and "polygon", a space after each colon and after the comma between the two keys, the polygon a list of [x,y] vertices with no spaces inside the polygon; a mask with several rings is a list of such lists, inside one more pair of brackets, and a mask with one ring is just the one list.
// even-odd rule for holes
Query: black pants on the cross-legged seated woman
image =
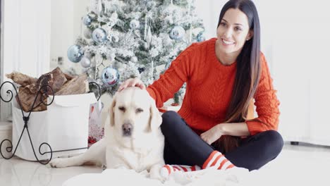
{"label": "black pants on the cross-legged seated woman", "polygon": [[[167,111],[162,118],[161,132],[165,136],[166,164],[202,167],[212,151],[218,150],[204,142],[178,113]],[[224,155],[235,166],[252,171],[275,159],[282,147],[283,139],[279,132],[268,130],[242,139],[237,149]]]}

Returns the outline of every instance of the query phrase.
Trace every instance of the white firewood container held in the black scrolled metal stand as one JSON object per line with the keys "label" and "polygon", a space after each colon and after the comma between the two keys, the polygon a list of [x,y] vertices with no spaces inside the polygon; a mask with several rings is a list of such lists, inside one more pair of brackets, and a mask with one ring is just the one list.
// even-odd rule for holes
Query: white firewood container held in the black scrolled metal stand
{"label": "white firewood container held in the black scrolled metal stand", "polygon": [[[47,103],[50,103],[52,99],[53,97],[49,97]],[[87,149],[81,148],[87,147],[90,104],[96,102],[94,93],[55,96],[53,103],[47,106],[46,111],[32,112],[27,128],[37,158],[39,160],[50,159],[51,153],[47,153],[50,152],[49,147],[45,144],[40,147],[44,142],[48,143],[53,151],[52,159],[85,152]],[[13,99],[12,104],[12,138],[13,150],[15,150],[24,128],[24,121],[16,99]],[[28,116],[28,113],[24,111],[23,113],[24,116]],[[39,147],[41,154],[39,154]],[[15,155],[22,159],[36,161],[26,130],[20,139]]]}

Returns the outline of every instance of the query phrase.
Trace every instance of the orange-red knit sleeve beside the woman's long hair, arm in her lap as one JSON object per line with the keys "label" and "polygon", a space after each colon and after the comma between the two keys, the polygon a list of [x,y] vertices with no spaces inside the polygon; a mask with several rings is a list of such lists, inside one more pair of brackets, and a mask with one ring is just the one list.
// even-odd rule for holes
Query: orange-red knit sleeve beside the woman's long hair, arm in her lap
{"label": "orange-red knit sleeve beside the woman's long hair, arm in her lap", "polygon": [[276,97],[276,90],[274,90],[273,80],[264,54],[260,55],[260,61],[262,63],[262,74],[255,93],[255,106],[258,117],[245,121],[251,135],[266,130],[277,130],[279,125],[279,100]]}

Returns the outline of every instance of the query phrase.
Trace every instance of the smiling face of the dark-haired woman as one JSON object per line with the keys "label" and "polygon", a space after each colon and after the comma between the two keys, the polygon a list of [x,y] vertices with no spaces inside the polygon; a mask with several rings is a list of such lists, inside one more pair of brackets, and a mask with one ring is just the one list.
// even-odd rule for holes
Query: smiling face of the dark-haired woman
{"label": "smiling face of the dark-haired woman", "polygon": [[239,9],[230,8],[224,14],[216,30],[218,49],[225,54],[240,53],[247,39],[253,32],[250,31],[245,13]]}

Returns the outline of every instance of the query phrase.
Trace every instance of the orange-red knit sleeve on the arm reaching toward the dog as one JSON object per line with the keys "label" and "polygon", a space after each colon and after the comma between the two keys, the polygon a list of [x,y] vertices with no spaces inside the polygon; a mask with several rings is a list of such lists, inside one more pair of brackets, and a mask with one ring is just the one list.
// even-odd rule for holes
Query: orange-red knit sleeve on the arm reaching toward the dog
{"label": "orange-red knit sleeve on the arm reaching toward the dog", "polygon": [[147,87],[147,92],[156,101],[158,108],[164,102],[173,98],[174,94],[182,87],[183,83],[190,78],[190,63],[195,44],[190,45],[172,61],[171,66],[160,75],[159,79]]}

